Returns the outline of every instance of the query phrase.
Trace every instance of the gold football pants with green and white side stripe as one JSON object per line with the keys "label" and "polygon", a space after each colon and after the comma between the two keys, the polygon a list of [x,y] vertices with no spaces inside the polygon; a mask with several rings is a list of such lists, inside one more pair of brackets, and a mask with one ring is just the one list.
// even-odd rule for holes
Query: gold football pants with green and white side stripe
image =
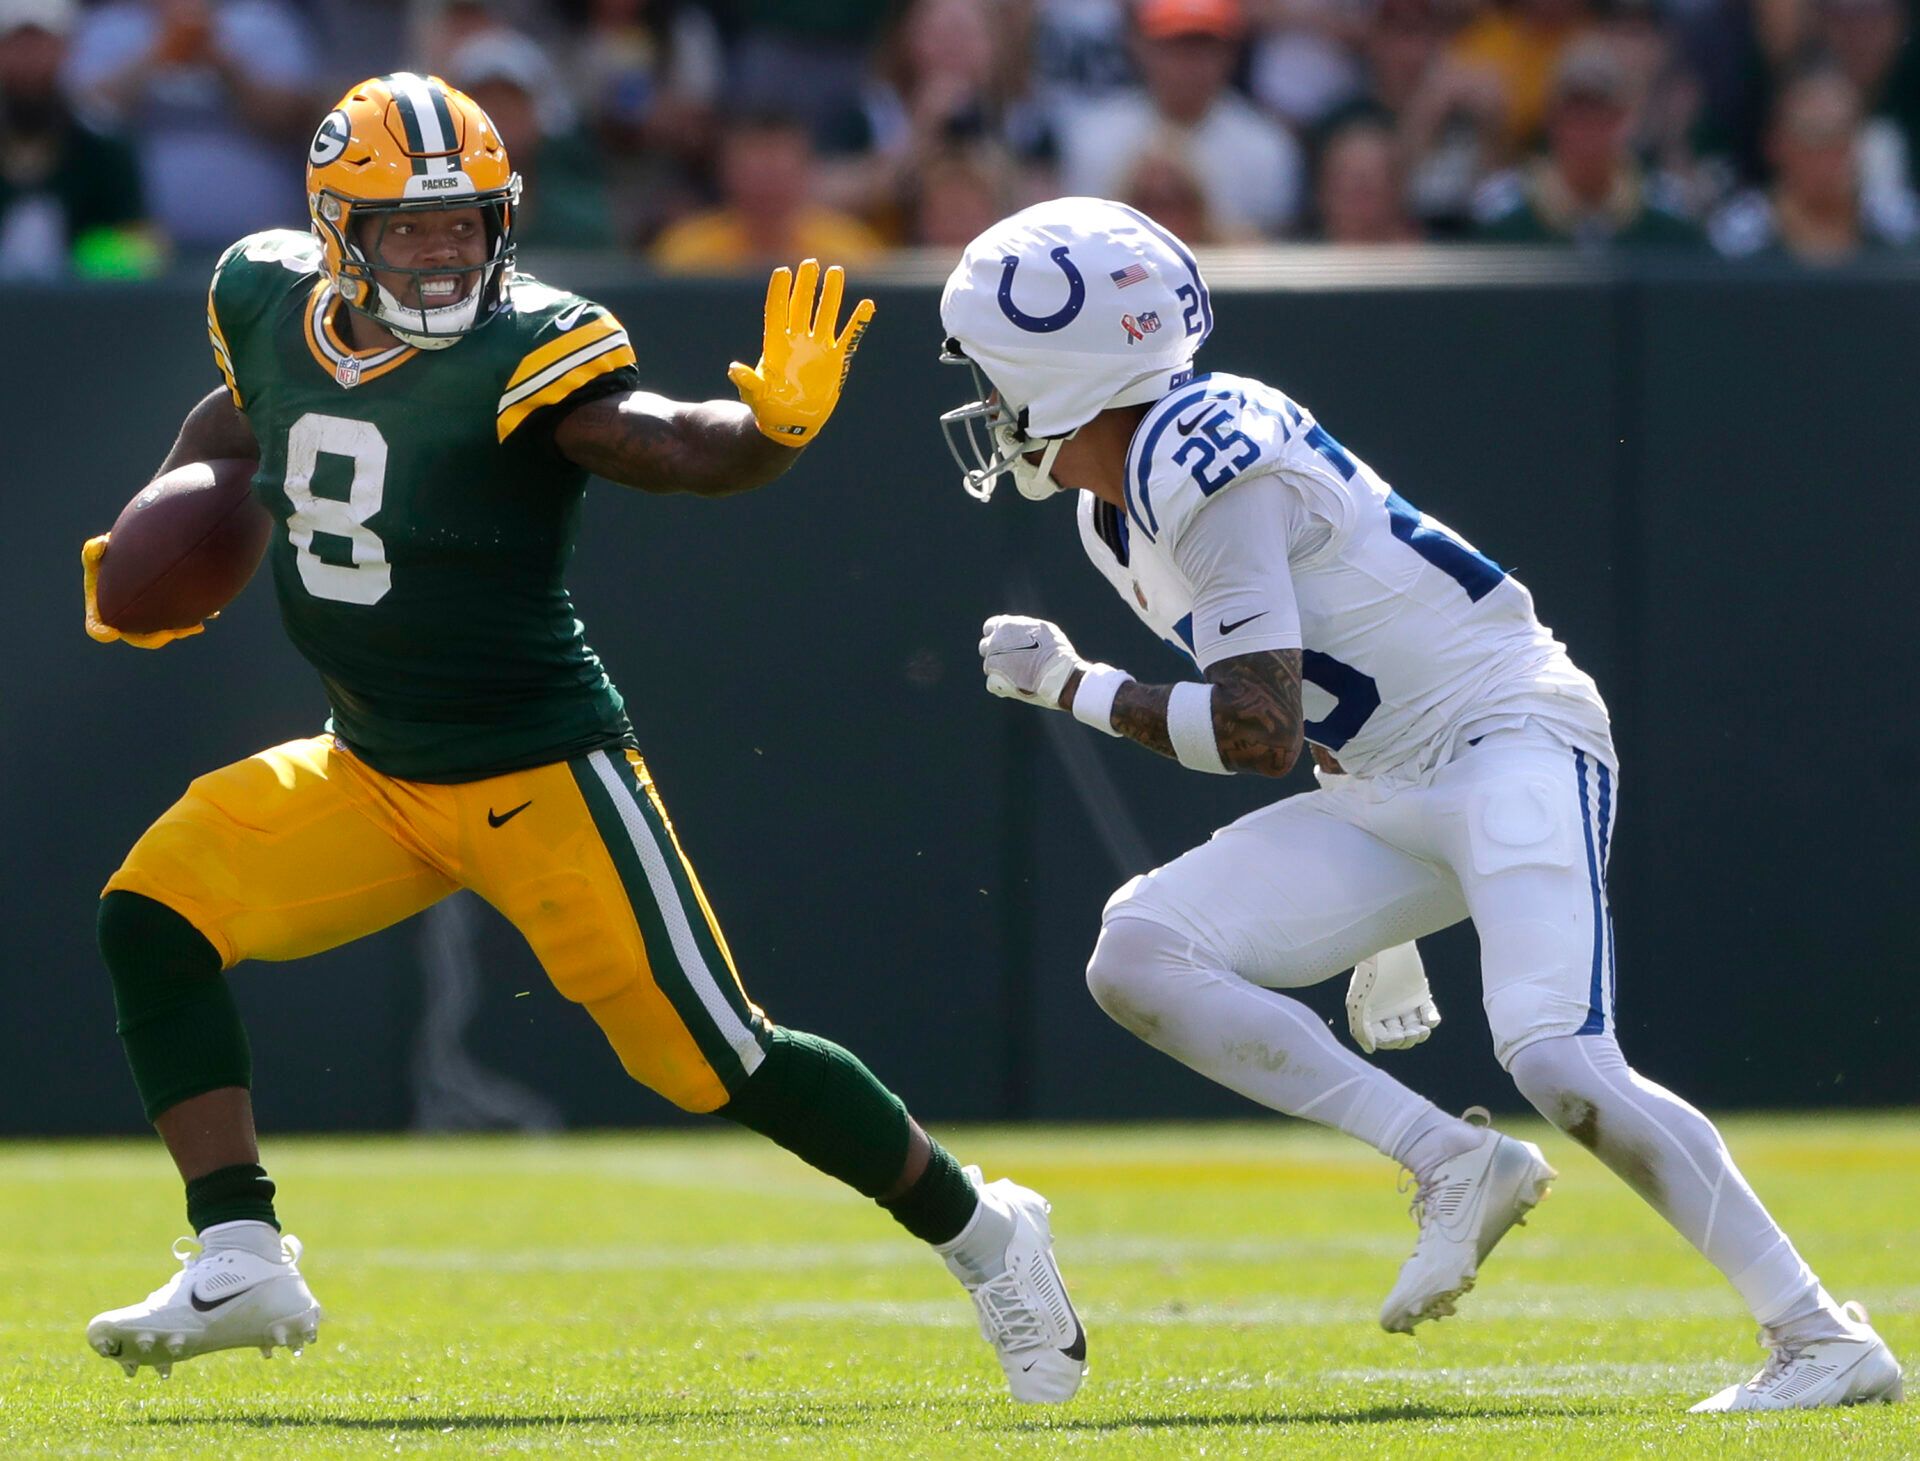
{"label": "gold football pants with green and white side stripe", "polygon": [[198,778],[108,881],[179,912],[227,968],[336,948],[472,889],[689,1112],[758,1067],[768,1023],[637,751],[484,781],[382,776],[332,735]]}

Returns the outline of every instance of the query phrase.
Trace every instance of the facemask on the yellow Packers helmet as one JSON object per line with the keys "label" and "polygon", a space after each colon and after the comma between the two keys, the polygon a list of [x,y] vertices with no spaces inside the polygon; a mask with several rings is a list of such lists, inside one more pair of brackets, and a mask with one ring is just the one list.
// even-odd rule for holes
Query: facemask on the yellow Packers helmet
{"label": "facemask on the yellow Packers helmet", "polygon": [[[349,309],[365,315],[392,336],[417,349],[445,349],[478,330],[495,313],[507,294],[513,273],[513,209],[520,200],[518,175],[488,194],[453,194],[430,202],[361,202],[332,190],[323,192],[315,223],[332,234],[340,271],[334,288]],[[384,261],[386,230],[401,215],[478,209],[486,227],[488,257],[472,265],[403,267]],[[361,232],[372,228],[371,246],[361,246]],[[396,296],[378,275],[401,276]],[[434,305],[426,299],[426,280],[472,278],[459,299]]]}

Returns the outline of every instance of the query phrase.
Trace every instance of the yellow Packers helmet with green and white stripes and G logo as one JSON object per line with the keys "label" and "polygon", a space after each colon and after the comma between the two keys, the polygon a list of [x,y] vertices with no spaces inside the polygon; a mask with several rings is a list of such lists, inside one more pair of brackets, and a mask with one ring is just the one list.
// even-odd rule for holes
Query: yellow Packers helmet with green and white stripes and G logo
{"label": "yellow Packers helmet with green and white stripes and G logo", "polygon": [[[340,298],[420,349],[444,349],[499,313],[513,271],[520,175],[486,111],[440,77],[396,71],[340,98],[307,150],[307,213]],[[478,207],[488,259],[470,269],[396,269],[382,257],[392,219]],[[374,228],[376,225],[376,228]],[[369,228],[374,228],[369,232]],[[374,276],[411,275],[399,299]],[[430,305],[424,276],[476,275],[455,303]]]}

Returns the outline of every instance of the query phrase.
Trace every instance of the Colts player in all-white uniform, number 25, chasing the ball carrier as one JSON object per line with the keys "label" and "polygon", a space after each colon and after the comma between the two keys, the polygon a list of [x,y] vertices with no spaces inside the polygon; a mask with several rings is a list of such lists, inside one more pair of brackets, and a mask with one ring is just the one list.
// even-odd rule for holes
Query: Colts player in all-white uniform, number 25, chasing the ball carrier
{"label": "Colts player in all-white uniform, number 25, chasing the ball carrier", "polygon": [[[941,299],[979,399],[943,426],[966,488],[1069,491],[1094,566],[1200,680],[1089,664],[1000,614],[987,689],[1194,772],[1319,789],[1217,831],[1106,904],[1094,1000],[1148,1044],[1411,1169],[1419,1240],[1380,1323],[1453,1313],[1546,1194],[1528,1142],[1436,1110],[1342,1048],[1284,989],[1359,964],[1356,1035],[1434,1023],[1407,941],[1471,918],[1486,1018],[1515,1085],[1726,1275],[1770,1350],[1693,1409],[1899,1400],[1901,1369],[1839,1305],[1715,1127],[1634,1073],[1613,1023],[1607,850],[1619,760],[1594,682],[1532,595],[1427,516],[1284,392],[1196,374],[1213,301],[1192,253],[1121,204],[1060,198],[975,238]],[[1388,950],[1382,954],[1382,950]],[[1380,956],[1375,964],[1373,956]],[[1365,1042],[1365,1039],[1363,1039]]]}

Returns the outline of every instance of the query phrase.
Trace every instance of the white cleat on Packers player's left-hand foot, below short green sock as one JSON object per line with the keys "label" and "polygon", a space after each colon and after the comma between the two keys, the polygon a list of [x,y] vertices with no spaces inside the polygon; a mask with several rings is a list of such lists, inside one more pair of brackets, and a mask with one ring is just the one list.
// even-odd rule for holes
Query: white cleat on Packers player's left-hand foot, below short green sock
{"label": "white cleat on Packers player's left-hand foot, below short green sock", "polygon": [[319,1334],[321,1305],[300,1277],[300,1238],[284,1236],[278,1259],[200,1248],[194,1238],[175,1238],[173,1256],[180,1271],[165,1284],[86,1325],[86,1342],[127,1378],[152,1365],[165,1380],[177,1361],[213,1350],[255,1348],[273,1359],[278,1344],[298,1355]]}

